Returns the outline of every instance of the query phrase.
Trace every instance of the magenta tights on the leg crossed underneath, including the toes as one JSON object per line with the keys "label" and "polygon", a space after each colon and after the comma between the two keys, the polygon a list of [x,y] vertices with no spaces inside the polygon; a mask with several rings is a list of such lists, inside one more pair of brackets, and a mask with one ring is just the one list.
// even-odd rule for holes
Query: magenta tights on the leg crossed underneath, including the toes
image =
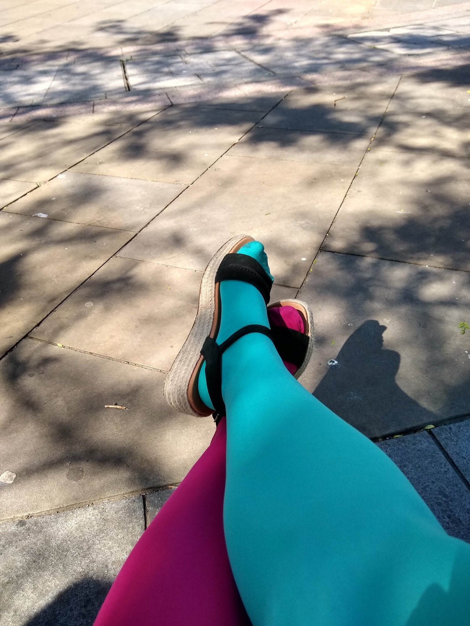
{"label": "magenta tights on the leg crossed underneath, including the toes", "polygon": [[[292,307],[274,326],[303,332]],[[295,366],[286,363],[291,373]],[[222,511],[227,429],[222,418],[202,454],[140,537],[95,626],[249,626],[227,556]]]}

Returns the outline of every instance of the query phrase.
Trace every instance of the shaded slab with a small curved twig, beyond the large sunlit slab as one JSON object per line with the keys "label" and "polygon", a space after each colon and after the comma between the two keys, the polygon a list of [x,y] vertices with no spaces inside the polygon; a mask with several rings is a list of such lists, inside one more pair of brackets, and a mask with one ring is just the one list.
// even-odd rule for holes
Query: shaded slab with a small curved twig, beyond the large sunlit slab
{"label": "shaded slab with a small curved twig, beyond the large sunlit slab", "polygon": [[372,137],[395,81],[294,91],[263,119],[264,126]]}

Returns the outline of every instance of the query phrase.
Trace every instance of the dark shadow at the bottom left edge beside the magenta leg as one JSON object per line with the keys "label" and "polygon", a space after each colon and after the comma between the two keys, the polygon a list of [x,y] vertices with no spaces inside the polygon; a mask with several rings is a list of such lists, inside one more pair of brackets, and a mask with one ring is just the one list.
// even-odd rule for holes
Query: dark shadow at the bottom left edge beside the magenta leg
{"label": "dark shadow at the bottom left edge beside the magenta leg", "polygon": [[111,583],[84,578],[61,592],[24,626],[92,626]]}

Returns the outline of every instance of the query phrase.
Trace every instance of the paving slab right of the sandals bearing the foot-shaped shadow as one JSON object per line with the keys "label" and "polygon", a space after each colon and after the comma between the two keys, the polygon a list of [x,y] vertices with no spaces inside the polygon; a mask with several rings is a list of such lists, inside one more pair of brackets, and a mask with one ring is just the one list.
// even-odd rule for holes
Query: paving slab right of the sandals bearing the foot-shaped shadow
{"label": "paving slab right of the sandals bearing the foot-shaped shadow", "polygon": [[300,290],[315,320],[301,382],[370,437],[468,411],[470,359],[459,322],[469,274],[321,252]]}

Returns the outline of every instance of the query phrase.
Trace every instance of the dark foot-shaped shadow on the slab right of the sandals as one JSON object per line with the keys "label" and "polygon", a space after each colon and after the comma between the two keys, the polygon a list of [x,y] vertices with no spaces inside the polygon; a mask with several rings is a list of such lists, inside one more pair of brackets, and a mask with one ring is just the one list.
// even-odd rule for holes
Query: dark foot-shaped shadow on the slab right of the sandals
{"label": "dark foot-shaped shadow on the slab right of the sandals", "polygon": [[313,395],[368,437],[382,437],[432,423],[434,414],[405,394],[395,382],[400,355],[384,349],[376,320],[363,322],[348,337]]}

